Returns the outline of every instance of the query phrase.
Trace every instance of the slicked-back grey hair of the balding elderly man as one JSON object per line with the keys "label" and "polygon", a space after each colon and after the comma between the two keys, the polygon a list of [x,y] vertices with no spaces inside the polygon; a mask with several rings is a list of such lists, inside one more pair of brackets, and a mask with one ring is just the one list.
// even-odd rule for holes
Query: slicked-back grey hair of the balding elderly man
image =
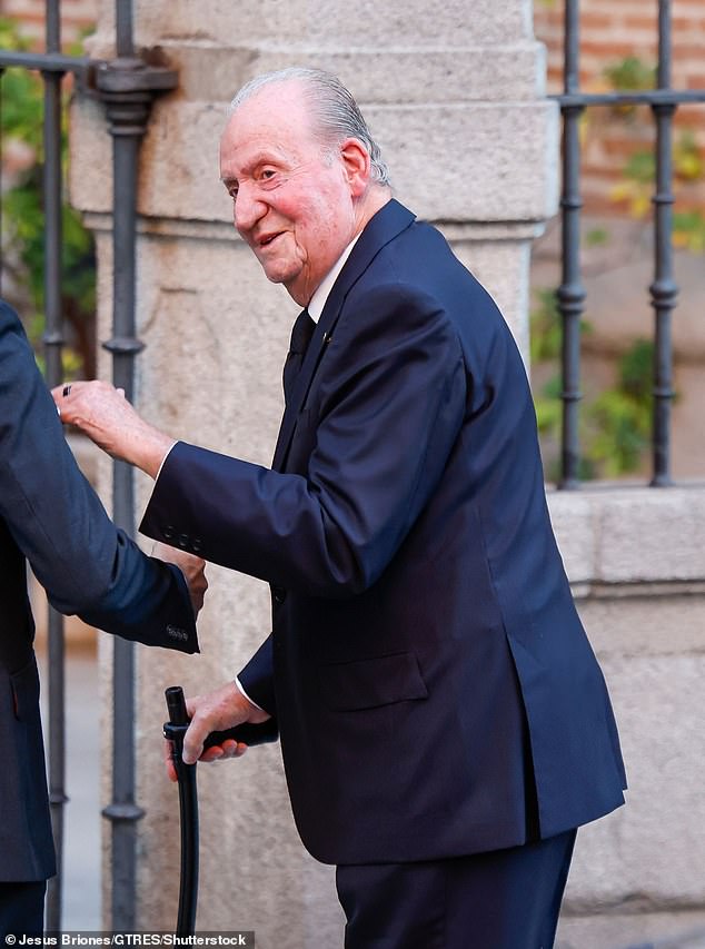
{"label": "slicked-back grey hair of the balding elderly man", "polygon": [[369,152],[371,177],[378,185],[389,185],[389,169],[381,158],[379,146],[373,138],[359,107],[337,76],[322,69],[290,66],[276,72],[265,72],[250,79],[230,102],[235,112],[242,102],[271,82],[299,80],[304,83],[311,105],[311,116],[318,125],[320,136],[332,142],[355,138]]}

